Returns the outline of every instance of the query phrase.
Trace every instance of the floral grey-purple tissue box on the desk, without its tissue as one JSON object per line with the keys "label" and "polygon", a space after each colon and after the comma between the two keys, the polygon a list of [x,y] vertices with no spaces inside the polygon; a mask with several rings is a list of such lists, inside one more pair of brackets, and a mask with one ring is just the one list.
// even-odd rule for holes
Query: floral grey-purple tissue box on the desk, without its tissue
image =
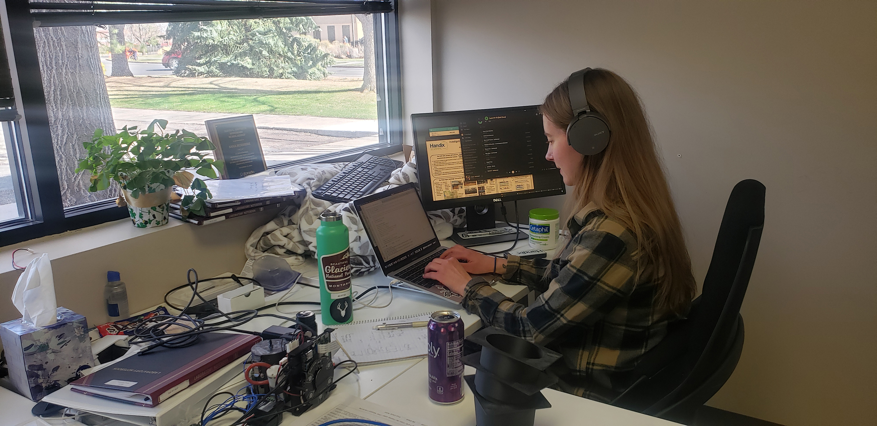
{"label": "floral grey-purple tissue box on the desk, without its tissue", "polygon": [[39,401],[95,365],[85,316],[59,307],[58,321],[35,327],[21,319],[0,323],[9,377],[19,394]]}

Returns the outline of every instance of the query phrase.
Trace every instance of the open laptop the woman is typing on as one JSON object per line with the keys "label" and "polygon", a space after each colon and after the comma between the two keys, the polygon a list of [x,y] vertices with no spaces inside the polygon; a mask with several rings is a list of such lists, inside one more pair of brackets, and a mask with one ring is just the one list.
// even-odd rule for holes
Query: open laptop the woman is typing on
{"label": "open laptop the woman is typing on", "polygon": [[424,278],[424,267],[446,250],[432,229],[414,183],[353,200],[384,275],[406,287],[423,290],[457,304],[463,296],[437,280]]}

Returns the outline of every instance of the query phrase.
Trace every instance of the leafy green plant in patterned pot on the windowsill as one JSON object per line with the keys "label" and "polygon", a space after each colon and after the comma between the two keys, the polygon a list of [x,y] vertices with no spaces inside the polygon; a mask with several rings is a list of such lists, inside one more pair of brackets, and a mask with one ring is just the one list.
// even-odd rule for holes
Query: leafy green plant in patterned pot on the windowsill
{"label": "leafy green plant in patterned pot on the windowsill", "polygon": [[[204,214],[204,200],[210,190],[201,179],[184,168],[217,177],[213,167],[222,161],[204,158],[215,149],[208,138],[191,131],[164,133],[168,120],[153,120],[145,130],[125,126],[114,135],[97,129],[90,142],[84,142],[88,155],[79,161],[76,172],[91,173],[90,192],[110,188],[111,181],[122,186],[118,204],[128,206],[134,226],[150,228],[168,223],[168,208],[174,185],[188,189],[180,200],[184,212]],[[158,128],[158,131],[156,131]],[[179,197],[179,195],[175,195]]]}

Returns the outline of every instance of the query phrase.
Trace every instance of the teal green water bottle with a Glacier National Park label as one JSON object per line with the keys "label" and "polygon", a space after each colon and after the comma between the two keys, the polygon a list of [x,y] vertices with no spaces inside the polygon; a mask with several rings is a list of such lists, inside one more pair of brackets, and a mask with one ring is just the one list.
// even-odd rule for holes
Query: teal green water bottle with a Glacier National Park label
{"label": "teal green water bottle with a Glacier National Park label", "polygon": [[320,309],[326,325],[353,321],[350,297],[350,231],[341,214],[324,211],[317,228],[317,266],[320,268]]}

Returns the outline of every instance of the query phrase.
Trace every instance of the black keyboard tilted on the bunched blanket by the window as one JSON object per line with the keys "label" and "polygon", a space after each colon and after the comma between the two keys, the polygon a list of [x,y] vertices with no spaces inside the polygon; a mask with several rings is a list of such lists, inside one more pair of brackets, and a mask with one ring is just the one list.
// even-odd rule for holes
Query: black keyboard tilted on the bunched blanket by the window
{"label": "black keyboard tilted on the bunched blanket by the window", "polygon": [[336,174],[330,181],[317,188],[313,195],[329,202],[351,202],[360,196],[371,194],[374,188],[387,181],[389,175],[402,161],[362,154]]}

